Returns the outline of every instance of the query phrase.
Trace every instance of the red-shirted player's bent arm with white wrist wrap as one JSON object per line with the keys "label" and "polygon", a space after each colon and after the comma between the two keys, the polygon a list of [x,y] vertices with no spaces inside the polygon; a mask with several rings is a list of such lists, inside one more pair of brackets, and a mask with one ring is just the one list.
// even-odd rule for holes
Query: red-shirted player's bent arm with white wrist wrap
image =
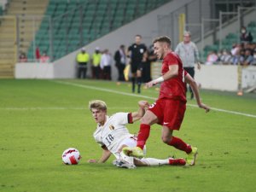
{"label": "red-shirted player's bent arm with white wrist wrap", "polygon": [[169,66],[169,71],[167,73],[165,73],[163,76],[161,76],[158,79],[154,79],[154,80],[148,82],[146,84],[146,87],[150,88],[150,87],[154,86],[155,84],[160,84],[163,81],[166,81],[166,80],[169,80],[169,79],[172,79],[172,78],[176,78],[177,75],[178,75],[178,65],[175,65],[175,64],[170,65]]}

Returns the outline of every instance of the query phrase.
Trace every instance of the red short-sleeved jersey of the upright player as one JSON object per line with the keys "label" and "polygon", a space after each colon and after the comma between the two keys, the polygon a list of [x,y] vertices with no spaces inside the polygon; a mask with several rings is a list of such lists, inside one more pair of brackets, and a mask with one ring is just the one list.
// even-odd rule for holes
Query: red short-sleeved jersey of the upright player
{"label": "red short-sleeved jersey of the upright player", "polygon": [[165,56],[162,63],[162,74],[167,73],[171,65],[178,65],[178,75],[176,78],[168,79],[160,85],[159,98],[171,98],[186,102],[186,85],[184,83],[186,72],[183,70],[183,62],[174,52],[170,52]]}

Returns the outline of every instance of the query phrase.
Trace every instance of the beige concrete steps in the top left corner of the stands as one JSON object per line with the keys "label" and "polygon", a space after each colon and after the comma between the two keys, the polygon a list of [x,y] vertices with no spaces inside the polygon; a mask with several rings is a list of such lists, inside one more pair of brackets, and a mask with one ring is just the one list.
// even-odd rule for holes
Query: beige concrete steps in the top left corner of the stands
{"label": "beige concrete steps in the top left corner of the stands", "polygon": [[[0,78],[14,77],[16,46],[19,46],[21,52],[27,51],[33,38],[31,18],[35,15],[44,15],[47,4],[48,0],[9,1],[5,15],[0,19]],[[16,38],[19,38],[19,42]]]}

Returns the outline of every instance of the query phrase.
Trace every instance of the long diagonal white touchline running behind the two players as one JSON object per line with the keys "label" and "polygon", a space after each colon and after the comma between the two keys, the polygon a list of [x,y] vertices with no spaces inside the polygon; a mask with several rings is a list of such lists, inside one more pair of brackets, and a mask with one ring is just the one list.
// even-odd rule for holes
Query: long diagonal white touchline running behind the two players
{"label": "long diagonal white touchline running behind the two players", "polygon": [[[119,94],[119,95],[123,95],[123,96],[135,96],[135,97],[140,97],[140,98],[145,98],[145,99],[156,100],[155,97],[151,97],[151,96],[143,96],[143,95],[137,95],[137,94],[132,94],[132,93],[125,93],[125,92],[121,92],[121,91],[117,91],[117,90],[108,90],[108,89],[105,89],[105,88],[94,87],[94,86],[85,85],[85,84],[74,84],[74,83],[63,82],[63,81],[54,81],[54,82],[58,83],[58,84],[67,84],[67,85],[72,85],[72,86],[75,86],[75,87],[80,87],[80,88],[85,88],[85,89],[90,89],[90,90],[100,90],[100,91],[115,93],[115,94]],[[193,107],[193,108],[198,108],[198,106],[195,105],[195,104],[189,104],[188,103],[187,106],[190,106],[190,107]],[[237,115],[251,117],[251,118],[256,118],[255,114],[241,113],[241,112],[230,111],[230,110],[225,110],[225,109],[221,109],[221,108],[211,108],[211,110],[218,111],[218,112],[223,112],[223,113],[237,114]]]}

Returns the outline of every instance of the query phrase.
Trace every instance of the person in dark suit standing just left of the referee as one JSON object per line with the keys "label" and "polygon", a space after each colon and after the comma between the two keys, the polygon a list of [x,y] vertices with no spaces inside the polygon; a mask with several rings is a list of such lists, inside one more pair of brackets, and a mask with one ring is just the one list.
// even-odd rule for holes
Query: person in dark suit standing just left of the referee
{"label": "person in dark suit standing just left of the referee", "polygon": [[119,49],[114,54],[115,67],[119,72],[119,81],[125,81],[124,70],[126,65],[125,45],[120,45]]}

